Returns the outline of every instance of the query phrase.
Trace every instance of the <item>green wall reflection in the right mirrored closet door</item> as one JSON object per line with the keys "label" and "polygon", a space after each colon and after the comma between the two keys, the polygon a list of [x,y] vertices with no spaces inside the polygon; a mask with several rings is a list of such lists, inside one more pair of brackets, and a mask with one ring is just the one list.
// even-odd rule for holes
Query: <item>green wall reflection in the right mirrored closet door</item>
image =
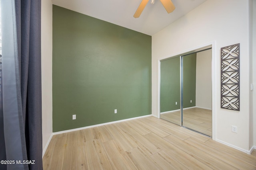
{"label": "green wall reflection in the right mirrored closet door", "polygon": [[196,106],[196,53],[183,57],[183,108],[194,106]]}

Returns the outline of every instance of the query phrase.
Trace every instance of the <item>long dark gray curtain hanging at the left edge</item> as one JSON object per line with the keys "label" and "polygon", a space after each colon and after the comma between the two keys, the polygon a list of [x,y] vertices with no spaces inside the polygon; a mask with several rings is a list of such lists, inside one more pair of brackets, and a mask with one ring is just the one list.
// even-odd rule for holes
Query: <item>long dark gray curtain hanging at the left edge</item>
{"label": "long dark gray curtain hanging at the left edge", "polygon": [[42,170],[41,0],[1,0],[1,6],[0,157],[15,164],[0,169]]}

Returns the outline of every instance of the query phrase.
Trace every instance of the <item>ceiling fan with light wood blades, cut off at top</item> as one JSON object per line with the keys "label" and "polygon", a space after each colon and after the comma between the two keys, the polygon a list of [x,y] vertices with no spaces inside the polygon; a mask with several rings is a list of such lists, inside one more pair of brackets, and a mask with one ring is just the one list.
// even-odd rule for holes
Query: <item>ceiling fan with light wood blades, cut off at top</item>
{"label": "ceiling fan with light wood blades, cut off at top", "polygon": [[[144,10],[146,4],[148,3],[149,0],[142,0],[140,3],[140,6],[138,7],[138,9],[136,10],[135,14],[134,14],[134,18],[139,18],[140,14],[142,13],[142,11]],[[164,6],[164,8],[166,9],[166,11],[168,13],[171,13],[174,11],[175,6],[172,3],[171,0],[160,0]],[[151,0],[151,4],[154,4],[155,0]]]}

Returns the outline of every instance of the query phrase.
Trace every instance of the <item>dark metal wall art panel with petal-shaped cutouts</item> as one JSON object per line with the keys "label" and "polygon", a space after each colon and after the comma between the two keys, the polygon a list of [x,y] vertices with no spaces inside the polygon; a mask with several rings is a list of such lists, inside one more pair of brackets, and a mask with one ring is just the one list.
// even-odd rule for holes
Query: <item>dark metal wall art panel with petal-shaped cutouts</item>
{"label": "dark metal wall art panel with petal-shaped cutouts", "polygon": [[240,43],[222,47],[221,108],[240,110]]}

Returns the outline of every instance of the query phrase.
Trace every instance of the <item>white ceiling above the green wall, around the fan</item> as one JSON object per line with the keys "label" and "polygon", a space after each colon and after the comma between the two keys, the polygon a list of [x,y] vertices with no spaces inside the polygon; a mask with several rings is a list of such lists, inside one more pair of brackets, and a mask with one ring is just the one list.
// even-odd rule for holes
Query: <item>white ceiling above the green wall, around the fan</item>
{"label": "white ceiling above the green wall, around the fan", "polygon": [[154,35],[206,0],[172,0],[176,9],[168,14],[160,2],[150,0],[139,18],[134,18],[141,0],[52,0],[52,3],[147,35]]}

